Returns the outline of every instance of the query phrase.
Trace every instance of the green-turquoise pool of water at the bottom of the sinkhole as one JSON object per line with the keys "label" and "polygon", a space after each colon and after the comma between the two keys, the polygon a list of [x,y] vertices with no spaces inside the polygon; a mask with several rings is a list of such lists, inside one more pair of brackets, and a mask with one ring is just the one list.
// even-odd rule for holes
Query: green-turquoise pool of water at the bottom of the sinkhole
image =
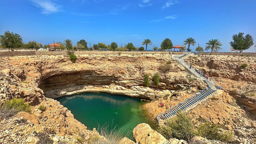
{"label": "green-turquoise pool of water at the bottom of the sinkhole", "polygon": [[74,118],[88,129],[98,128],[105,123],[119,128],[133,140],[132,130],[140,123],[147,123],[155,128],[152,117],[143,107],[140,99],[101,93],[83,93],[57,99],[64,107],[71,110]]}

